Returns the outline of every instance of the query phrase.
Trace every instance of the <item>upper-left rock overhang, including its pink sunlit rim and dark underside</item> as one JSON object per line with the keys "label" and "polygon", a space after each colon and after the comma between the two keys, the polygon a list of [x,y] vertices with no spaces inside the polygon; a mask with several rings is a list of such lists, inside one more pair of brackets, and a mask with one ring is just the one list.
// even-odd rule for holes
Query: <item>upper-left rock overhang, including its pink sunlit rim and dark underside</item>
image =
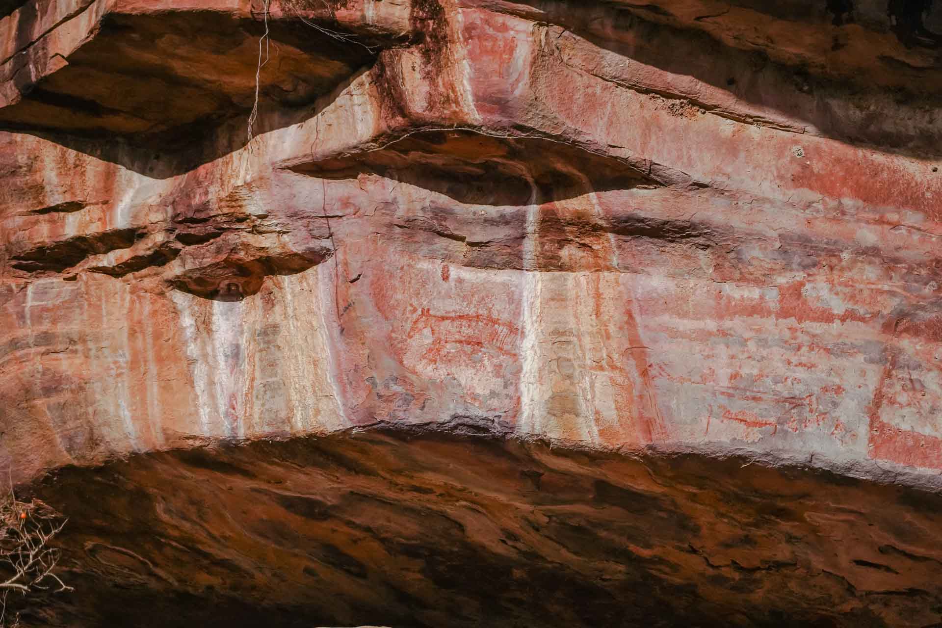
{"label": "upper-left rock overhang, including its pink sunlit rim and dark underside", "polygon": [[192,152],[256,98],[263,109],[310,107],[409,40],[409,17],[408,4],[377,0],[31,1],[4,20],[0,124]]}

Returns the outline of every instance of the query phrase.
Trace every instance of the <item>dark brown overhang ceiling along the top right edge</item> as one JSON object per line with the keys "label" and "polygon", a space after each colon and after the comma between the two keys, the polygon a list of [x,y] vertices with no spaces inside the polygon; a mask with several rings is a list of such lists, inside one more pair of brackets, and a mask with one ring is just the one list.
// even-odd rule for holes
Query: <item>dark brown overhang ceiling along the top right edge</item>
{"label": "dark brown overhang ceiling along the top right edge", "polygon": [[[716,43],[756,53],[753,63],[791,67],[796,78],[820,75],[912,94],[938,94],[942,11],[925,2],[869,0],[522,0],[481,2],[485,6],[549,24],[571,24],[596,40],[630,39],[640,29],[658,37],[684,30],[710,56]],[[594,23],[594,24],[593,24]],[[656,24],[664,28],[651,28]],[[918,32],[916,32],[918,31]],[[698,39],[703,33],[713,40]],[[916,37],[914,37],[916,36]],[[657,45],[657,43],[656,43]],[[643,55],[642,55],[643,58]],[[670,63],[670,59],[664,59]],[[696,64],[696,61],[692,61]],[[809,89],[809,85],[798,86]]]}

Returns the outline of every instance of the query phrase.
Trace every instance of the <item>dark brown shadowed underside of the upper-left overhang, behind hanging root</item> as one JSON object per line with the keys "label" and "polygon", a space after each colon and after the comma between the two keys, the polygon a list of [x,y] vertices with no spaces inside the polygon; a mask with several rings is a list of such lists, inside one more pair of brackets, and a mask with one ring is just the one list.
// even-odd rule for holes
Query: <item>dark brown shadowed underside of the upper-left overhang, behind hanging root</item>
{"label": "dark brown shadowed underside of the upper-left overhang, behind hanging root", "polygon": [[[219,125],[247,118],[260,60],[259,106],[291,111],[313,104],[371,64],[376,51],[392,41],[375,34],[341,40],[300,17],[279,17],[268,20],[268,47],[263,46],[259,59],[266,28],[261,15],[238,19],[212,10],[106,14],[61,69],[35,83],[28,82],[32,72],[15,74],[22,100],[0,108],[0,127],[64,136],[63,141],[77,145],[120,139],[133,154],[187,151],[195,160],[192,167],[215,156],[219,147],[203,143]],[[22,63],[27,62],[24,56]],[[18,61],[14,57],[8,63]],[[295,122],[283,118],[283,125]],[[241,135],[244,143],[246,134]]]}

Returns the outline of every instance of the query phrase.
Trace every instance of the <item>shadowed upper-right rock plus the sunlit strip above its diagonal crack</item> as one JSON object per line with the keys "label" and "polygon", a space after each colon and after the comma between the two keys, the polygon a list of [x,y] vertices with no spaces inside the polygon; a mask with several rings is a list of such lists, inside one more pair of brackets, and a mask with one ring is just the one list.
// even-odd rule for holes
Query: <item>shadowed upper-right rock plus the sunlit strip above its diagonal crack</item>
{"label": "shadowed upper-right rock plus the sunlit strip above its diagonal crack", "polygon": [[[933,112],[942,57],[937,45],[904,41],[932,39],[926,24],[942,31],[942,5],[929,13],[914,8],[925,7],[921,0],[892,2],[889,11],[885,3],[851,5],[524,0],[499,9],[554,24],[545,47],[567,65],[661,95],[680,111],[686,105],[734,121],[938,155],[942,130]],[[918,19],[905,17],[914,11]],[[758,32],[764,36],[754,37]],[[601,51],[602,62],[594,58]],[[900,108],[908,115],[889,114]]]}

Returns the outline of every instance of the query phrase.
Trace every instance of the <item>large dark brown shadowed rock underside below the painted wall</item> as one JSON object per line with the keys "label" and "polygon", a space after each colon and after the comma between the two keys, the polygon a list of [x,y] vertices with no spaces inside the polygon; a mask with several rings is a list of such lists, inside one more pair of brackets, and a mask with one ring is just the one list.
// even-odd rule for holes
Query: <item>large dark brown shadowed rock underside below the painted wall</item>
{"label": "large dark brown shadowed rock underside below the painted wall", "polygon": [[75,628],[939,620],[937,494],[449,430],[62,469],[32,492],[70,516],[76,591],[35,607]]}

